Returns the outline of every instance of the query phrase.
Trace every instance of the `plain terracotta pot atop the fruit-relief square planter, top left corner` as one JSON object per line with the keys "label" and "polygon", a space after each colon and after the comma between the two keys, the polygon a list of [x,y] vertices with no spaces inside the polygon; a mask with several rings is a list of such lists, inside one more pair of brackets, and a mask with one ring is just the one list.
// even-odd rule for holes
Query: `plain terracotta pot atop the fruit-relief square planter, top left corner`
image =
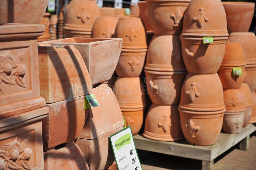
{"label": "plain terracotta pot atop the fruit-relief square planter, top left corner", "polygon": [[0,23],[39,24],[48,0],[1,0]]}

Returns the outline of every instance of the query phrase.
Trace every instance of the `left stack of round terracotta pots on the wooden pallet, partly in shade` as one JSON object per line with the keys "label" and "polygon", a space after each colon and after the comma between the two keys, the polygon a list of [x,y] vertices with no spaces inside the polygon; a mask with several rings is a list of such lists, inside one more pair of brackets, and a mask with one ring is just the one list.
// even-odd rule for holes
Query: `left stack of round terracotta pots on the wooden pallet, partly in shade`
{"label": "left stack of round terracotta pots on the wooden pallet, partly in shade", "polygon": [[[180,33],[182,16],[189,2],[146,0],[148,21],[155,34],[145,65],[147,91],[153,104],[145,120],[143,136],[150,139],[184,138],[178,104],[187,71],[181,55]],[[180,15],[176,16],[176,11],[180,11]]]}

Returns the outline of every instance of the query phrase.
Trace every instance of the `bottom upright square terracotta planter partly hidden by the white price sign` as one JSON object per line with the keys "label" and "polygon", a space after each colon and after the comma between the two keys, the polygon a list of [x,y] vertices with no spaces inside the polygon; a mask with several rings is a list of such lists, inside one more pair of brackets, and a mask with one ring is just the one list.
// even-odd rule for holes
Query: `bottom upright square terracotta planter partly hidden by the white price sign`
{"label": "bottom upright square terracotta planter partly hidden by the white price sign", "polygon": [[122,129],[123,127],[117,128],[92,140],[81,138],[76,140],[76,144],[82,150],[90,170],[107,169],[113,164],[115,158],[109,136]]}

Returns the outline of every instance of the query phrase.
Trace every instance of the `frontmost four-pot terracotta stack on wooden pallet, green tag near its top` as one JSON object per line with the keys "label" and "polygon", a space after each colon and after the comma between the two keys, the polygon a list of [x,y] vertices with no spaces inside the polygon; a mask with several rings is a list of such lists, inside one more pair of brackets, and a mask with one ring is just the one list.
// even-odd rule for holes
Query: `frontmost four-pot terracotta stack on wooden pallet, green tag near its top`
{"label": "frontmost four-pot terracotta stack on wooden pallet, green tag near its top", "polygon": [[[212,37],[213,43],[204,44],[203,37]],[[211,145],[220,134],[226,110],[217,74],[228,40],[221,1],[191,0],[180,39],[188,70],[179,105],[181,129],[188,143]]]}

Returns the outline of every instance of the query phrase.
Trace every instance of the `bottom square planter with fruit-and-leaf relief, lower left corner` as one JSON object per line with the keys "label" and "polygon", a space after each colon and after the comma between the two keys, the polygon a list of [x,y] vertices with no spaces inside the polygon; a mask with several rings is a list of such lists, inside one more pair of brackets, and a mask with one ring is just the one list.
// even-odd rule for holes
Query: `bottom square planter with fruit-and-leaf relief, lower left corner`
{"label": "bottom square planter with fruit-and-leaf relief, lower left corner", "polygon": [[0,120],[0,168],[44,169],[42,119],[48,107]]}

